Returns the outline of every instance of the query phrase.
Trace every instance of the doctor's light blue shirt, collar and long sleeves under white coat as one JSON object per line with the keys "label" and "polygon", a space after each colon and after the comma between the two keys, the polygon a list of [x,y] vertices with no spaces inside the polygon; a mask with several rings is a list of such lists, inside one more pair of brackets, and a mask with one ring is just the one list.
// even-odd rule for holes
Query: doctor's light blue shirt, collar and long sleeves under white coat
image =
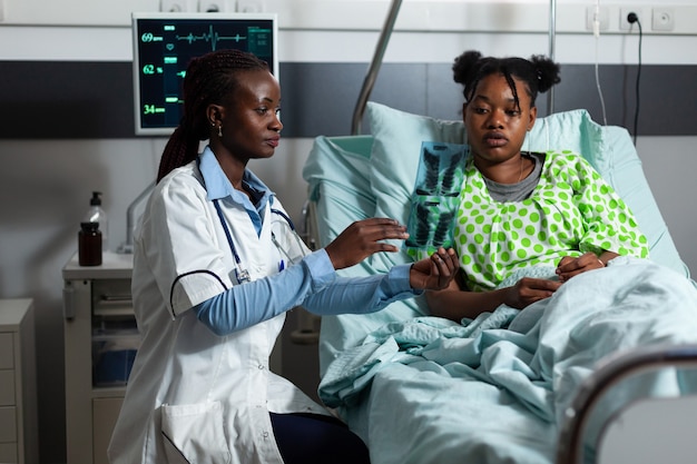
{"label": "doctor's light blue shirt, collar and long sleeves under white coat", "polygon": [[[254,172],[245,169],[243,182],[256,198],[256,205],[253,205],[249,197],[233,187],[209,147],[199,156],[199,170],[207,199],[229,197],[242,204],[257,234],[261,234],[261,213],[267,203],[273,203],[274,197],[268,187]],[[372,313],[414,294],[409,283],[409,265],[395,266],[386,275],[337,278],[328,255],[320,249],[305,256],[298,265],[273,276],[235,285],[194,309],[198,319],[214,333],[225,335],[267,320],[297,305],[321,315]]]}

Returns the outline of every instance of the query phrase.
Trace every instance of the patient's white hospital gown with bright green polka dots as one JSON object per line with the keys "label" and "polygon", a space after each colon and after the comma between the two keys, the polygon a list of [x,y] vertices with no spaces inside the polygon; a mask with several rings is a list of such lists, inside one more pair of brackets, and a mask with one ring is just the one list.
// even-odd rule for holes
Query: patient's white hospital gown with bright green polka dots
{"label": "patient's white hospital gown with bright green polka dots", "polygon": [[455,249],[471,290],[587,251],[648,257],[629,207],[586,159],[568,151],[546,155],[540,180],[522,201],[492,199],[469,158],[460,199]]}

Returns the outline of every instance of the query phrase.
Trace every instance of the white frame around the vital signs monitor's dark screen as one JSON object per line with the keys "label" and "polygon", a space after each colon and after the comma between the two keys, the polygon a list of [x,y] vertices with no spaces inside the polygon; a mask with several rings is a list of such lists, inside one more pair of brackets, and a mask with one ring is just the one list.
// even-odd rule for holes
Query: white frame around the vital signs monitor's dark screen
{"label": "white frame around the vital signs monitor's dark screen", "polygon": [[274,50],[273,63],[269,63],[272,73],[279,79],[278,72],[278,16],[264,12],[134,12],[131,13],[132,40],[132,80],[134,80],[134,117],[136,136],[170,136],[175,127],[143,127],[140,118],[140,78],[138,50],[139,20],[262,20],[272,23],[272,47]]}

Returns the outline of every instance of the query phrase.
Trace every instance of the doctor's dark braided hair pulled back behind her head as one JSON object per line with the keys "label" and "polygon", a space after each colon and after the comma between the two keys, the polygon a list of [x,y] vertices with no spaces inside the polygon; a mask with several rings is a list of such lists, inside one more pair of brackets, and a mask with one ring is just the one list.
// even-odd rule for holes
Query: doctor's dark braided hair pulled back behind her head
{"label": "doctor's dark braided hair pulled back behind her head", "polygon": [[158,182],[171,170],[196,159],[198,142],[209,138],[208,106],[223,103],[236,90],[238,72],[251,70],[269,68],[266,61],[235,49],[213,51],[189,62],[184,78],[181,120],[163,151]]}

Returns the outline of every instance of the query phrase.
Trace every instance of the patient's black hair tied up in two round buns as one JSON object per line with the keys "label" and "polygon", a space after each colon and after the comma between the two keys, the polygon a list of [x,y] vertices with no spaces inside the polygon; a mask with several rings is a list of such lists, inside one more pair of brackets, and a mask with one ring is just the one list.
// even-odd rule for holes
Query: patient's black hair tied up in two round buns
{"label": "patient's black hair tied up in two round buns", "polygon": [[524,58],[493,58],[482,57],[479,51],[465,51],[452,66],[453,79],[464,87],[462,95],[464,101],[470,101],[474,96],[479,82],[491,75],[502,75],[505,78],[516,107],[520,109],[518,89],[513,77],[526,82],[526,91],[530,96],[530,106],[534,107],[538,92],[546,92],[553,85],[559,83],[559,65],[540,55],[533,55],[529,60]]}

